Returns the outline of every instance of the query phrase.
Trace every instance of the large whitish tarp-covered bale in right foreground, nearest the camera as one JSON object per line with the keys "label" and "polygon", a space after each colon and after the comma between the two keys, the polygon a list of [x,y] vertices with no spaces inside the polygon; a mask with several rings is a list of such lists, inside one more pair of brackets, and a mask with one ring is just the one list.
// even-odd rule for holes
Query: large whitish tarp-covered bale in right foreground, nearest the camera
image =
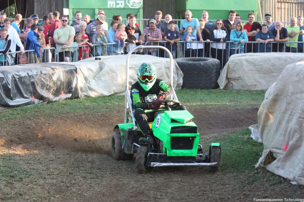
{"label": "large whitish tarp-covered bale in right foreground, nearest the camera", "polygon": [[256,166],[304,184],[304,62],[286,66],[258,111],[264,144]]}

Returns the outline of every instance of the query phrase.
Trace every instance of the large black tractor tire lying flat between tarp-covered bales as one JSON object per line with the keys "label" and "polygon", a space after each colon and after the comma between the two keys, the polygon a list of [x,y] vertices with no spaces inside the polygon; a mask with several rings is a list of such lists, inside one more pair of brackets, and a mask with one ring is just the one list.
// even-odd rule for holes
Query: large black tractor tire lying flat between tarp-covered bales
{"label": "large black tractor tire lying flat between tarp-covered bales", "polygon": [[174,59],[184,74],[182,88],[216,89],[221,63],[215,58]]}

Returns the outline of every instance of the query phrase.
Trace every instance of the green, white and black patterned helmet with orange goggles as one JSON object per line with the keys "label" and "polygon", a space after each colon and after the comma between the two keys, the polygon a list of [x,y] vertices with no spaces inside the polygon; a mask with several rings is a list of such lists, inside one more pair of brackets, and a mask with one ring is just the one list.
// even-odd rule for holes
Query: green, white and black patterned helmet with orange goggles
{"label": "green, white and black patterned helmet with orange goggles", "polygon": [[137,80],[140,86],[149,91],[156,81],[156,68],[148,62],[144,62],[137,69]]}

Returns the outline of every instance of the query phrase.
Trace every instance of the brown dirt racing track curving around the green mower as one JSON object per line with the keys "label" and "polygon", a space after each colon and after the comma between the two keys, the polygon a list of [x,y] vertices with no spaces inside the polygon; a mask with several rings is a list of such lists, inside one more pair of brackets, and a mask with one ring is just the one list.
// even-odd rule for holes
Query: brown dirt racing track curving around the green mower
{"label": "brown dirt racing track curving around the green mower", "polygon": [[[257,108],[189,111],[200,142],[257,123]],[[278,196],[282,189],[290,196],[302,193],[291,186],[265,187],[252,176],[225,169],[210,173],[208,167],[160,167],[139,175],[134,159],[116,161],[111,154],[113,127],[123,122],[119,114],[123,111],[7,120],[0,126],[6,134],[0,144],[18,160],[16,166],[31,167],[35,174],[24,183],[50,201],[246,201]],[[35,198],[26,188],[20,201]]]}

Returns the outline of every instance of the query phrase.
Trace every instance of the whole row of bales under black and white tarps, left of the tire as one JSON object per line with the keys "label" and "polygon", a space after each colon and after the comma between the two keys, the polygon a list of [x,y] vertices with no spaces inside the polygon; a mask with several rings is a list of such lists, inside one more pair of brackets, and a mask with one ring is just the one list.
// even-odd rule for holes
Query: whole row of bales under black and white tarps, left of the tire
{"label": "whole row of bales under black and white tarps, left of the tire", "polygon": [[[4,66],[0,68],[0,107],[12,107],[84,96],[106,96],[125,92],[126,55],[100,56],[78,62],[54,62]],[[130,85],[136,70],[152,63],[157,77],[167,83],[170,60],[150,55],[131,55]],[[181,88],[183,74],[174,61],[174,89]]]}

